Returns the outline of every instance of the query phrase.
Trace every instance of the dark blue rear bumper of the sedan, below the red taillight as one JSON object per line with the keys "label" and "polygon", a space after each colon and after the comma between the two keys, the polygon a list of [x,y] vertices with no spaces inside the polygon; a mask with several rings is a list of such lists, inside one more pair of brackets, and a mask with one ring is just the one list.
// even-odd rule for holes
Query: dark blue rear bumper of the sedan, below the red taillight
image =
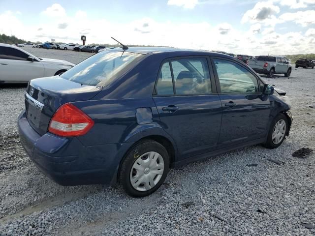
{"label": "dark blue rear bumper of the sedan, below the red taillight", "polygon": [[121,159],[132,143],[85,147],[75,137],[40,136],[26,113],[18,118],[22,146],[45,175],[61,185],[113,184]]}

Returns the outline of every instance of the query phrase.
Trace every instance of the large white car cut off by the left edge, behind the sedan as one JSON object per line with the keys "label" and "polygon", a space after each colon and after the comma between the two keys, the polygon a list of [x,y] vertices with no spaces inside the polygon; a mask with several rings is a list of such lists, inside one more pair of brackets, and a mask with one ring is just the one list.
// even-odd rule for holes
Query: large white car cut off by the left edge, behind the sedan
{"label": "large white car cut off by the left edge, behind the sedan", "polygon": [[0,43],[0,84],[28,83],[35,78],[59,75],[73,66],[65,60],[37,58],[21,48]]}

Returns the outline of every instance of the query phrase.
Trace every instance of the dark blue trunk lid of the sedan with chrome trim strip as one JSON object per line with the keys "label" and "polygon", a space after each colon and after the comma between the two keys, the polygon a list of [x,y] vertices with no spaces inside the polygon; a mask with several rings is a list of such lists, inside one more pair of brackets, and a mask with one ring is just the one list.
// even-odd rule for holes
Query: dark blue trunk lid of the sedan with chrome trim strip
{"label": "dark blue trunk lid of the sedan with chrome trim strip", "polygon": [[92,99],[102,87],[81,85],[59,76],[31,80],[25,92],[25,110],[32,128],[47,133],[50,119],[64,103]]}

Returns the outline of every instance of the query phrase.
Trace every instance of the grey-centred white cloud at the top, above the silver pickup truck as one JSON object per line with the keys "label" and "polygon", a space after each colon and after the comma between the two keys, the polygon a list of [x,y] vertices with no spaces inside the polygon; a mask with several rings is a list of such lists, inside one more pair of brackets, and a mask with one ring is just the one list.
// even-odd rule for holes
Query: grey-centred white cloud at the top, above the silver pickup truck
{"label": "grey-centred white cloud at the top, above the silver pickup truck", "polygon": [[279,6],[273,4],[272,1],[257,2],[255,6],[245,12],[242,17],[241,23],[265,23],[267,25],[272,25],[275,14],[280,12]]}

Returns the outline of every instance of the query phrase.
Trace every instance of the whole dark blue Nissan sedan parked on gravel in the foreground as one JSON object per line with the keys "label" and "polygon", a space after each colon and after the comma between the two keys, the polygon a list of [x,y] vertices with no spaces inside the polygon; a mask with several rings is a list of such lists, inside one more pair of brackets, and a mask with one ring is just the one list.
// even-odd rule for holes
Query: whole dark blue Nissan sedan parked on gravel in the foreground
{"label": "whole dark blue Nissan sedan parked on gravel in the foreground", "polygon": [[18,118],[36,166],[62,185],[118,184],[143,197],[169,168],[236,148],[279,147],[285,92],[245,63],[209,51],[115,48],[33,79]]}

